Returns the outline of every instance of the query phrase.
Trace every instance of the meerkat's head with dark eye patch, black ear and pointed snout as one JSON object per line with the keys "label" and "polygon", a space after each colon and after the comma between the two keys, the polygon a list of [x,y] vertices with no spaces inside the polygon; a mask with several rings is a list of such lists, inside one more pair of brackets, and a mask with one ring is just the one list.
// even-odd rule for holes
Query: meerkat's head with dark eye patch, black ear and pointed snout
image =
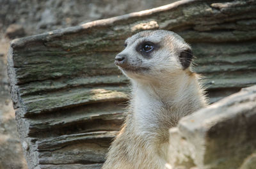
{"label": "meerkat's head with dark eye patch, black ear and pointed snout", "polygon": [[115,57],[115,64],[134,80],[168,77],[189,68],[191,47],[172,31],[142,31],[125,41],[125,49]]}

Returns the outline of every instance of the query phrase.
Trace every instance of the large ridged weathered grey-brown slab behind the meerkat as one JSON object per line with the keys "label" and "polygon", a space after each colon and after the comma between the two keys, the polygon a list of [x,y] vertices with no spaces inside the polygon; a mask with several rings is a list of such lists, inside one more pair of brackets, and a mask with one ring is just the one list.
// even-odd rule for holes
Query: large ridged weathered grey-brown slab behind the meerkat
{"label": "large ridged weathered grey-brown slab behind the meerkat", "polygon": [[[61,154],[65,165],[104,161],[110,141],[79,135],[109,138],[122,124],[128,80],[113,61],[138,31],[172,30],[191,43],[211,102],[256,84],[255,14],[255,1],[186,0],[12,41],[8,74],[29,168],[61,168]],[[70,136],[72,145],[55,143]],[[45,142],[59,149],[38,149]]]}

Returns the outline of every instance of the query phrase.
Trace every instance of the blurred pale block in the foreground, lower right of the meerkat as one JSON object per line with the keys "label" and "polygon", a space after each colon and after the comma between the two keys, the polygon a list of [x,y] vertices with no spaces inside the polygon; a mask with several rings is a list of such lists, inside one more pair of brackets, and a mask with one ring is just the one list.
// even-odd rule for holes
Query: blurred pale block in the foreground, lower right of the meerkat
{"label": "blurred pale block in the foreground, lower right of the meerkat", "polygon": [[180,120],[170,129],[173,168],[255,168],[256,85]]}

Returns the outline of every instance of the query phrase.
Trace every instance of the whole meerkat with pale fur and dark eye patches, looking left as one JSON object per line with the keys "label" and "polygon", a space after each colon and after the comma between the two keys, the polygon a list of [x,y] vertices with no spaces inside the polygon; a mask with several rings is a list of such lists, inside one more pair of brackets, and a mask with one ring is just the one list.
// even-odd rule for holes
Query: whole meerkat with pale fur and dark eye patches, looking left
{"label": "whole meerkat with pale fur and dark eye patches, looking left", "polygon": [[142,31],[125,41],[115,64],[132,84],[127,117],[103,169],[163,169],[168,129],[207,105],[191,47],[171,31]]}

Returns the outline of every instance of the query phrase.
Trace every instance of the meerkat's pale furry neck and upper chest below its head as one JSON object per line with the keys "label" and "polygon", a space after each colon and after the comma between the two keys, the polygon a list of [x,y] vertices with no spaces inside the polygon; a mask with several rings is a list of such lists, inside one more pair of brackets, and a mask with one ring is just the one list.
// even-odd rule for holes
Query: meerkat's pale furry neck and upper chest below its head
{"label": "meerkat's pale furry neck and upper chest below its head", "polygon": [[170,77],[152,82],[132,80],[133,125],[147,138],[159,133],[164,133],[165,138],[168,129],[175,126],[181,117],[206,105],[195,73],[183,72]]}

